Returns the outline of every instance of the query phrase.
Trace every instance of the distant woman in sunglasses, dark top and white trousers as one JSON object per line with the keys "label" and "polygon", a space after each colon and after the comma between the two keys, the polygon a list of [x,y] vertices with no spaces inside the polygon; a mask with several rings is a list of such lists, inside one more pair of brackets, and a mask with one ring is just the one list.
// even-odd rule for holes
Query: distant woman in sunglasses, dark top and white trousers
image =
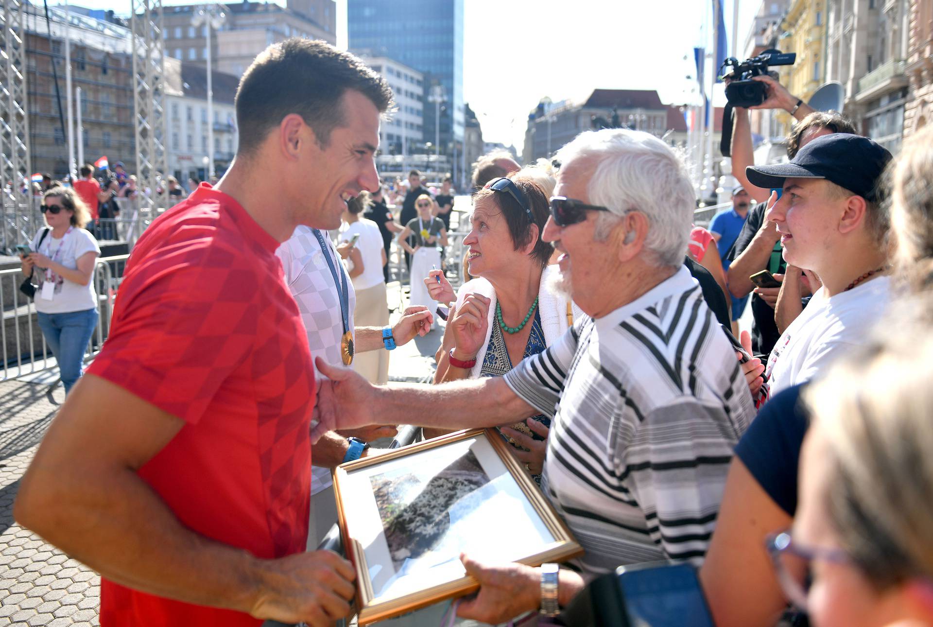
{"label": "distant woman in sunglasses, dark top and white trousers", "polygon": [[[433,313],[438,303],[431,298],[423,279],[431,270],[440,268],[438,247],[447,245],[447,230],[443,221],[434,215],[434,201],[430,196],[422,194],[415,199],[414,205],[418,210],[418,217],[412,218],[405,225],[398,233],[396,241],[411,255],[409,304],[425,305],[427,310]],[[414,236],[413,246],[407,241],[411,235]]]}

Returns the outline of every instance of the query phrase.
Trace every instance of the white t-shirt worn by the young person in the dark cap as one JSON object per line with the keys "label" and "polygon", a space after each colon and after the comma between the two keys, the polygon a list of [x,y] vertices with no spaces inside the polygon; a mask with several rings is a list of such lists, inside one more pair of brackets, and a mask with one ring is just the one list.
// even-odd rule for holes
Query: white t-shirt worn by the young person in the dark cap
{"label": "white t-shirt worn by the young person in the dark cap", "polygon": [[817,289],[774,344],[766,370],[771,394],[813,379],[833,359],[864,343],[890,301],[891,279],[887,276],[833,297],[826,295],[825,288]]}

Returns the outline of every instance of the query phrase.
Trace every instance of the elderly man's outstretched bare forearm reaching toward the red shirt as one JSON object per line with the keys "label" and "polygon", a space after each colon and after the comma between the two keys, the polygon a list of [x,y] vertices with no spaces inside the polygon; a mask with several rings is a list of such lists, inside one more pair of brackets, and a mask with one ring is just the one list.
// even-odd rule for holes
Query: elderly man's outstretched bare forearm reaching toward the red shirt
{"label": "elderly man's outstretched bare forearm reaching toward the red shirt", "polygon": [[373,406],[380,424],[445,429],[508,425],[536,413],[501,377],[443,385],[394,383],[376,388]]}

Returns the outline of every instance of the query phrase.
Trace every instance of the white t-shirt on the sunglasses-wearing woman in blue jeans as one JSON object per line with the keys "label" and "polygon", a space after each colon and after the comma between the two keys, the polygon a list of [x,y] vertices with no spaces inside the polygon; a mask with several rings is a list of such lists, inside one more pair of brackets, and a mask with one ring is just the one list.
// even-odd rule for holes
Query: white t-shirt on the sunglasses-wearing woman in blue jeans
{"label": "white t-shirt on the sunglasses-wearing woman in blue jeans", "polygon": [[[62,239],[52,237],[51,230],[39,246],[44,229],[39,230],[33,238],[30,248],[42,253],[52,261],[61,263],[65,268],[77,269],[77,260],[83,255],[94,251],[95,257],[100,257],[101,247],[90,232],[72,227]],[[43,314],[69,314],[71,312],[84,312],[97,307],[97,297],[94,292],[93,274],[86,286],[79,286],[73,281],[59,276],[50,270],[36,268],[33,271],[33,281],[38,285],[35,290],[35,311]],[[52,300],[42,298],[42,285],[46,281],[55,284]]]}

